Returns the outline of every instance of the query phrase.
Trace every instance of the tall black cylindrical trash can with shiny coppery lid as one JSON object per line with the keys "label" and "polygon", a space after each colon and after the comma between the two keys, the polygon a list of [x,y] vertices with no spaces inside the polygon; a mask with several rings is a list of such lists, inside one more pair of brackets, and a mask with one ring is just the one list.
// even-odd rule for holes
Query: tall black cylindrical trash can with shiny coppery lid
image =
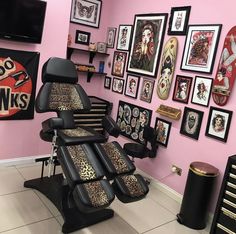
{"label": "tall black cylindrical trash can with shiny coppery lid", "polygon": [[189,228],[206,227],[208,206],[219,170],[204,162],[192,162],[189,167],[184,196],[177,221]]}

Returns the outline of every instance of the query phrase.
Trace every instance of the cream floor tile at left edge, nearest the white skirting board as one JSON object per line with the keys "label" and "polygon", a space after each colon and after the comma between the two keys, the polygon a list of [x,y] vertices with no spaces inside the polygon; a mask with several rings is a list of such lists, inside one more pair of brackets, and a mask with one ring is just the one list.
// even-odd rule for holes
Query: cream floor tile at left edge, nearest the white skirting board
{"label": "cream floor tile at left edge, nearest the white skirting board", "polygon": [[1,168],[0,170],[0,195],[26,190],[24,179],[15,167]]}

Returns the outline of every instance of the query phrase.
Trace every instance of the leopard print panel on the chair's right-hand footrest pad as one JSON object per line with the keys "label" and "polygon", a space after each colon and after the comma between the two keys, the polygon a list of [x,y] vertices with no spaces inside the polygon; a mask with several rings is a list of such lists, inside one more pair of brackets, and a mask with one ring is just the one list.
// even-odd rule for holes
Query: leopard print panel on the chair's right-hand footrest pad
{"label": "leopard print panel on the chair's right-hand footrest pad", "polygon": [[131,197],[140,197],[145,194],[135,175],[124,175],[121,176],[121,179],[129,190]]}

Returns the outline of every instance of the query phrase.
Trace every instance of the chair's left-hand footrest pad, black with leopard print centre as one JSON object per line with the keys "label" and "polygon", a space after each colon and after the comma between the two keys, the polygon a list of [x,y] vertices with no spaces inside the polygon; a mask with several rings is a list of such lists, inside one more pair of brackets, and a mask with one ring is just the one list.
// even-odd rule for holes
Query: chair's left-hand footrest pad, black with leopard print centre
{"label": "chair's left-hand footrest pad, black with leopard print centre", "polygon": [[107,180],[99,180],[76,185],[73,198],[81,212],[91,213],[108,207],[115,195]]}

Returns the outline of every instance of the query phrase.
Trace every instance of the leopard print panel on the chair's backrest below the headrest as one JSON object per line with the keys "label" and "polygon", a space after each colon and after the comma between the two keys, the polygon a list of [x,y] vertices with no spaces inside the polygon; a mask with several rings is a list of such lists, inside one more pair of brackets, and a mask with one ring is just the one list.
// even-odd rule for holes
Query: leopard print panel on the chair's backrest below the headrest
{"label": "leopard print panel on the chair's backrest below the headrest", "polygon": [[80,96],[73,84],[52,83],[49,97],[49,108],[52,110],[84,109]]}

